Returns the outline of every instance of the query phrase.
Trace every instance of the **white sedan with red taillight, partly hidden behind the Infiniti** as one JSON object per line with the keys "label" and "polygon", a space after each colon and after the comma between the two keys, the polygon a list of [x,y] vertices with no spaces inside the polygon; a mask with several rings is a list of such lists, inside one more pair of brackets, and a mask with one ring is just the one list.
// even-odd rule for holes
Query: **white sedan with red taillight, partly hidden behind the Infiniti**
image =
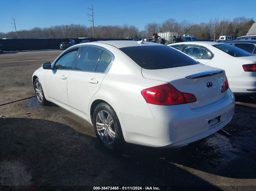
{"label": "white sedan with red taillight, partly hidden behind the Infiniti", "polygon": [[168,45],[199,62],[226,71],[234,94],[256,93],[256,57],[226,43],[183,42]]}

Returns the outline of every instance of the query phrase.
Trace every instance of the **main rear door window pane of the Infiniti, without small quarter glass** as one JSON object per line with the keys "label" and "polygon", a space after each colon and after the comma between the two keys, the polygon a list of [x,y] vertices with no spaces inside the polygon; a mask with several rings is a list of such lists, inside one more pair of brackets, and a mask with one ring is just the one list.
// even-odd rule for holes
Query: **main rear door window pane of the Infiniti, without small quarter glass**
{"label": "main rear door window pane of the Infiniti, without small quarter glass", "polygon": [[98,59],[101,56],[102,49],[96,47],[83,47],[78,61],[76,63],[75,70],[95,72]]}

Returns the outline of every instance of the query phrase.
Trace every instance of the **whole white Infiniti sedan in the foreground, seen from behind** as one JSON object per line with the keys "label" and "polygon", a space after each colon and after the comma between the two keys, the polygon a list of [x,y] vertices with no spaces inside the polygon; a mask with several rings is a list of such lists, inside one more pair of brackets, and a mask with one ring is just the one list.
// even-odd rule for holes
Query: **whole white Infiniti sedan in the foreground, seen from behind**
{"label": "whole white Infiniti sedan in the foreground, seen from behind", "polygon": [[40,104],[85,119],[109,149],[124,142],[181,147],[223,128],[234,114],[224,70],[158,43],[75,45],[32,80]]}

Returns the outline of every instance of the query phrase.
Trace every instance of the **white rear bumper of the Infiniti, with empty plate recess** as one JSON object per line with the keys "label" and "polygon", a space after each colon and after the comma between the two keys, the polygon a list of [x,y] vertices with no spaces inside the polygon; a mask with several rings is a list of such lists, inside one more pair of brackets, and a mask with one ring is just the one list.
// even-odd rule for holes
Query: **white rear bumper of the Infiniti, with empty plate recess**
{"label": "white rear bumper of the Infiniti, with empty plate recess", "polygon": [[[226,126],[234,114],[234,95],[225,96],[207,106],[190,109],[188,104],[158,106],[149,104],[154,119],[118,113],[125,141],[151,147],[177,148],[207,137]],[[220,122],[208,121],[220,116]]]}

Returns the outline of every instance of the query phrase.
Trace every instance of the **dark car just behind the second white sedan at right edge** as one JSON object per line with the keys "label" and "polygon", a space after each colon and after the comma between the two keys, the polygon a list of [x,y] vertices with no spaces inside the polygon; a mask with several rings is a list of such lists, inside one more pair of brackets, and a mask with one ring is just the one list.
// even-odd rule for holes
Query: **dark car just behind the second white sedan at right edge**
{"label": "dark car just behind the second white sedan at right edge", "polygon": [[229,41],[226,43],[241,48],[247,51],[248,53],[251,53],[254,56],[256,56],[256,40],[236,40]]}

